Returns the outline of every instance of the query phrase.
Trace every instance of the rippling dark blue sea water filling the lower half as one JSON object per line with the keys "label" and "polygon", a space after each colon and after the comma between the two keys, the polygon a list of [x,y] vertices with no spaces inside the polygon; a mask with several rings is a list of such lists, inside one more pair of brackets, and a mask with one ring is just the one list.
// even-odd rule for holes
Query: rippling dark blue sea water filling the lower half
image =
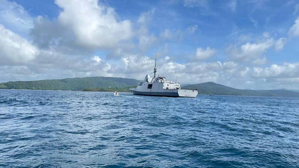
{"label": "rippling dark blue sea water filling the lower half", "polygon": [[0,90],[0,167],[299,167],[299,99]]}

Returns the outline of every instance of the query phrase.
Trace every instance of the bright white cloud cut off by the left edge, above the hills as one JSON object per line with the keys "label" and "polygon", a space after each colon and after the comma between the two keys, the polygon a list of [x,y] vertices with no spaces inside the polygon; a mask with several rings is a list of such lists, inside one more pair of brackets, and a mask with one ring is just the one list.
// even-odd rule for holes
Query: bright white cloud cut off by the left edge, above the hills
{"label": "bright white cloud cut off by the left edge, above the hills", "polygon": [[25,64],[35,58],[38,48],[0,24],[0,58],[2,65]]}

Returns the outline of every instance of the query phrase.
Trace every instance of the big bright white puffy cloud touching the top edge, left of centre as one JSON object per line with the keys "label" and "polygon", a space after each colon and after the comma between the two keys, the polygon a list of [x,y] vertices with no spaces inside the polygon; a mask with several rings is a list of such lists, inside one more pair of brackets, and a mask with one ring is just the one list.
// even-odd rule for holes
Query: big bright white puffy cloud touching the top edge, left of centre
{"label": "big bright white puffy cloud touching the top edge, left of centre", "polygon": [[55,3],[63,8],[58,21],[72,28],[80,45],[109,48],[132,37],[131,22],[118,21],[114,9],[99,5],[97,0]]}

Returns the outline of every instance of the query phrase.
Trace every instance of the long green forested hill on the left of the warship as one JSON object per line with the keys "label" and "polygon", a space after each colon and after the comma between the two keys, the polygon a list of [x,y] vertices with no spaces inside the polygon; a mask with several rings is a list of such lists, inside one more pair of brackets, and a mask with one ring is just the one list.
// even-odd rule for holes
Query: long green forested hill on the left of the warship
{"label": "long green forested hill on the left of the warship", "polygon": [[85,88],[124,88],[138,85],[138,80],[117,77],[83,77],[54,80],[16,81],[0,83],[1,89],[71,90]]}

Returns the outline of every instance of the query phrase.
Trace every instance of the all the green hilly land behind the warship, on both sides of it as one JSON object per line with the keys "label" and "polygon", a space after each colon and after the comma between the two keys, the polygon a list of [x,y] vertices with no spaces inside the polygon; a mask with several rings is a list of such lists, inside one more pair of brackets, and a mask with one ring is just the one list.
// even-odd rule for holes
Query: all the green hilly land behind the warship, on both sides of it
{"label": "all the green hilly land behind the warship, on both sides of it", "polygon": [[[120,77],[83,77],[60,80],[16,81],[0,83],[0,89],[67,90],[67,91],[118,91],[130,92],[140,80]],[[182,88],[196,88],[198,94],[232,96],[299,97],[299,92],[287,89],[249,90],[235,89],[213,82],[184,84]]]}

